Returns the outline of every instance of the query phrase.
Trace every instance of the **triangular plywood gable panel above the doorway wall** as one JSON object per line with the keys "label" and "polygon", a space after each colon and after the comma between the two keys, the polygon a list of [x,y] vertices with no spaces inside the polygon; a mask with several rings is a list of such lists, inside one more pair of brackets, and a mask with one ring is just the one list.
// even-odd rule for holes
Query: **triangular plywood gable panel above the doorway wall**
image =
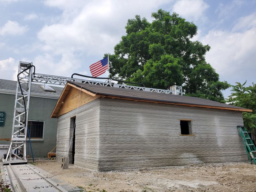
{"label": "triangular plywood gable panel above the doorway wall", "polygon": [[[79,96],[80,95],[80,96]],[[98,99],[100,96],[92,96],[86,92],[80,91],[75,87],[71,87],[68,95],[65,100],[62,101],[62,105],[58,111],[57,117],[72,111],[73,109],[80,107],[86,103],[89,103],[95,99]],[[78,103],[79,101],[79,103]]]}

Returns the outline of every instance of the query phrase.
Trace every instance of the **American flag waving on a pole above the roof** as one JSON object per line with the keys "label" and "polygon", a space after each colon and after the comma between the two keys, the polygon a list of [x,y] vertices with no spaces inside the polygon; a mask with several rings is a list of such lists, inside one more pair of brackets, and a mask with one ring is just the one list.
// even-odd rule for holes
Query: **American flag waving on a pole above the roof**
{"label": "American flag waving on a pole above the roof", "polygon": [[97,77],[105,73],[108,69],[108,57],[93,63],[90,66],[90,71],[93,77]]}

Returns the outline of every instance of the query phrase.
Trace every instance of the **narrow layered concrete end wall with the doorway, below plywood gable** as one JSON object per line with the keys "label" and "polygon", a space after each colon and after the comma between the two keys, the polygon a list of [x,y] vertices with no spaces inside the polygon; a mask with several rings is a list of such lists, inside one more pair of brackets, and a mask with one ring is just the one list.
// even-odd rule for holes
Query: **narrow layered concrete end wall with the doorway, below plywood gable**
{"label": "narrow layered concrete end wall with the doorway, below plywood gable", "polygon": [[74,164],[87,169],[98,169],[99,109],[100,100],[96,99],[58,118],[57,161],[68,155],[69,163],[72,162],[71,118],[76,116]]}

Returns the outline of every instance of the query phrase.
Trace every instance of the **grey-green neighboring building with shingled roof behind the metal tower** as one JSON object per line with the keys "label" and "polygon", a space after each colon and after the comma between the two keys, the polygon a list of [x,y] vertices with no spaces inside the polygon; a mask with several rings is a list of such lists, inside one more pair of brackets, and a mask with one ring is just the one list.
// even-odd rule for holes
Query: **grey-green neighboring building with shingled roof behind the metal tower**
{"label": "grey-green neighboring building with shingled roof behind the metal tower", "polygon": [[[0,127],[0,146],[10,144],[6,140],[12,136],[16,87],[16,81],[0,79],[0,111],[6,114],[5,124]],[[56,145],[57,120],[50,118],[50,115],[63,88],[51,87],[55,92],[44,91],[40,84],[31,84],[28,129],[34,157],[47,157],[47,153]],[[32,157],[30,146],[27,145],[26,150],[27,155]]]}

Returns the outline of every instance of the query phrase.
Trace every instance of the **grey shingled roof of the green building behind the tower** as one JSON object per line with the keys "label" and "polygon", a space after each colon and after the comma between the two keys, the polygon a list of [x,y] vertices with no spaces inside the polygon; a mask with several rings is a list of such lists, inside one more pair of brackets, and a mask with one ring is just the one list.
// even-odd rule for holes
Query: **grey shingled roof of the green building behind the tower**
{"label": "grey shingled roof of the green building behind the tower", "polygon": [[[52,99],[59,99],[63,87],[51,86],[56,92],[44,91],[41,84],[31,84],[31,96],[34,97],[47,97]],[[16,94],[17,81],[0,79],[0,93]]]}

